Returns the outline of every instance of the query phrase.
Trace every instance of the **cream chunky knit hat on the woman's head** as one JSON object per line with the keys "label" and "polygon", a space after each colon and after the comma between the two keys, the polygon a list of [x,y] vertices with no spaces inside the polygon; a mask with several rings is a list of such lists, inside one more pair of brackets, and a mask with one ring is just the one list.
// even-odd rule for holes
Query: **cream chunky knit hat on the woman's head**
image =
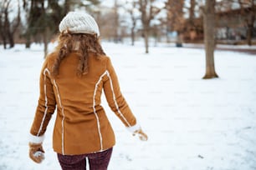
{"label": "cream chunky knit hat on the woman's head", "polygon": [[69,12],[59,23],[59,32],[89,33],[100,36],[100,30],[88,13]]}

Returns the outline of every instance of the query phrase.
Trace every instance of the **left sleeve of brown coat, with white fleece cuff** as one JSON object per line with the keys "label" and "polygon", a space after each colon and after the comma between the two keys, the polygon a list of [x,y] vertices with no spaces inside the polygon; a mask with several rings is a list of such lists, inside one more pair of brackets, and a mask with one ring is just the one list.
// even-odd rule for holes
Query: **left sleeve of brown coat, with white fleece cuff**
{"label": "left sleeve of brown coat, with white fleece cuff", "polygon": [[54,88],[50,81],[49,69],[47,68],[47,59],[40,73],[39,88],[38,107],[30,129],[29,142],[31,143],[43,143],[44,133],[56,107]]}

